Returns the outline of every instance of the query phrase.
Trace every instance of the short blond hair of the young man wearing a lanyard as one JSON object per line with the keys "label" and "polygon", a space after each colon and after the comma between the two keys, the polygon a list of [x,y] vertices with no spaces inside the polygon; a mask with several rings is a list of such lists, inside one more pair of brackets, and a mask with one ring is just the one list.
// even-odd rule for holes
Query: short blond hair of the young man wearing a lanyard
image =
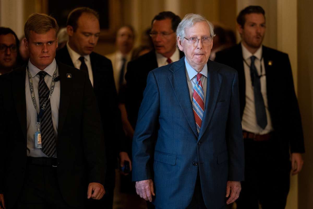
{"label": "short blond hair of the young man wearing a lanyard", "polygon": [[29,40],[31,30],[36,34],[43,34],[50,29],[55,30],[56,37],[59,31],[59,25],[53,17],[46,14],[33,13],[28,17],[28,20],[24,25],[25,38]]}

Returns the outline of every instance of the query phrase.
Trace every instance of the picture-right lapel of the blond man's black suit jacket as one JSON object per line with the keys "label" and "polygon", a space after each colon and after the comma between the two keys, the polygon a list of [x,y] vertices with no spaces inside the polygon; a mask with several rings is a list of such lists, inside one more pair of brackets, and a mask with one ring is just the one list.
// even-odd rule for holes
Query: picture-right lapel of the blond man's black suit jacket
{"label": "picture-right lapel of the blond man's black suit jacket", "polygon": [[[58,133],[61,133],[62,128],[64,126],[64,121],[66,118],[66,114],[69,108],[69,102],[71,97],[71,92],[73,89],[73,79],[67,78],[66,67],[60,63],[58,63],[59,75],[60,75],[60,105],[59,105],[59,124],[58,124]],[[72,71],[70,71],[72,72]]]}

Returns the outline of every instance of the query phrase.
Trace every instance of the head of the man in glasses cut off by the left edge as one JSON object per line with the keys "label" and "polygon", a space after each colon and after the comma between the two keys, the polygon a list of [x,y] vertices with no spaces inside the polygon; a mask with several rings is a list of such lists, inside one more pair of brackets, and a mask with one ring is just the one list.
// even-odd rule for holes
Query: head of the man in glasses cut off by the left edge
{"label": "head of the man in glasses cut off by the left edge", "polygon": [[0,75],[16,67],[19,40],[13,30],[0,27]]}

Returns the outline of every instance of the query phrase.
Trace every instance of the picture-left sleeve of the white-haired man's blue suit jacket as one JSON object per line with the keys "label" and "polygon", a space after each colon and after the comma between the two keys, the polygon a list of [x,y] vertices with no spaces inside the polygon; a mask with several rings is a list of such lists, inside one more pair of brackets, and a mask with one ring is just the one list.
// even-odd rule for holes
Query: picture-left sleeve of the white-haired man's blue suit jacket
{"label": "picture-left sleeve of the white-haired man's blue suit jacket", "polygon": [[153,71],[148,74],[147,86],[138,113],[138,121],[132,144],[132,180],[152,178],[149,160],[153,158],[153,146],[160,108],[159,89]]}

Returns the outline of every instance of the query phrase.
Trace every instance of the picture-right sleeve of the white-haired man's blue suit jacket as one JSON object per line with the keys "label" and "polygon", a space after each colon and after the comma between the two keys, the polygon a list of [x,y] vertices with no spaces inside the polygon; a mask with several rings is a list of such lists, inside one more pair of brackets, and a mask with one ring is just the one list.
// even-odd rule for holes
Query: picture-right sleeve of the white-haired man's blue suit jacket
{"label": "picture-right sleeve of the white-haired man's blue suit jacket", "polygon": [[242,136],[238,73],[233,78],[232,94],[230,98],[228,120],[226,126],[226,140],[228,148],[228,180],[244,180],[244,141]]}

